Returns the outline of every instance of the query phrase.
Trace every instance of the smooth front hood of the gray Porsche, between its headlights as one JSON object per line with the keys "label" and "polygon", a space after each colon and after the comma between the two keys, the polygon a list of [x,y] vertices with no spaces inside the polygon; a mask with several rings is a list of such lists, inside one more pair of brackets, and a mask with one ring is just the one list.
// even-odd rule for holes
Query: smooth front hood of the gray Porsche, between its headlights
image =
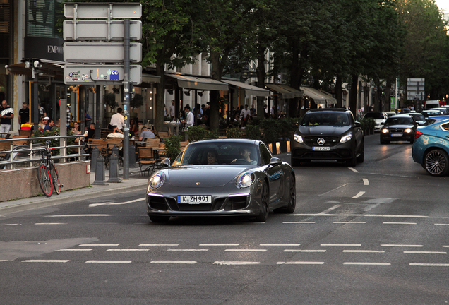
{"label": "smooth front hood of the gray Porsche, between its headlights", "polygon": [[181,166],[167,169],[169,184],[176,187],[217,187],[231,182],[241,172],[246,172],[247,166],[220,165]]}

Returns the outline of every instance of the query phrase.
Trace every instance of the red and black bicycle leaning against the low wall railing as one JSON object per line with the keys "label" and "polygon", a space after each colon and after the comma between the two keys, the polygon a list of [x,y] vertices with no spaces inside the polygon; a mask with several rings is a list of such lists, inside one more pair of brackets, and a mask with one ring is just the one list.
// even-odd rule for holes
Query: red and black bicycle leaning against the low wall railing
{"label": "red and black bicycle leaning against the low wall railing", "polygon": [[53,191],[59,195],[61,193],[61,184],[59,181],[59,174],[54,161],[52,160],[52,151],[54,148],[50,148],[50,141],[45,142],[46,148],[42,150],[42,162],[39,166],[39,180],[40,189],[45,196],[52,196]]}

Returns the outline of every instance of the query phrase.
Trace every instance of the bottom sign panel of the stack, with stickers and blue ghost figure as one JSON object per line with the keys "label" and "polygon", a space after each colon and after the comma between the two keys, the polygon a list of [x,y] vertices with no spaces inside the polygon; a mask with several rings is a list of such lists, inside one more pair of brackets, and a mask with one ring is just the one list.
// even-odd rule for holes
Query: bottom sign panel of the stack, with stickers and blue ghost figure
{"label": "bottom sign panel of the stack, with stickers and blue ghost figure", "polygon": [[[124,66],[120,65],[66,65],[64,83],[66,85],[122,85]],[[133,85],[142,83],[142,66],[131,65],[129,81]]]}

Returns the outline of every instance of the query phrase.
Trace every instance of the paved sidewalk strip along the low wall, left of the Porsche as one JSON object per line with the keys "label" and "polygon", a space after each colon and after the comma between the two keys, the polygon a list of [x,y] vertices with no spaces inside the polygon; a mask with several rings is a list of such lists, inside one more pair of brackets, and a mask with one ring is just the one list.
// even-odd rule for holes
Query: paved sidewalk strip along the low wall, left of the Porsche
{"label": "paved sidewalk strip along the low wall, left of the Porsche", "polygon": [[[105,171],[107,183],[109,180],[109,170]],[[139,167],[130,167],[129,179],[123,180],[123,168],[119,169],[119,178],[122,179],[120,183],[108,183],[108,185],[92,185],[95,181],[95,173],[90,173],[90,186],[82,189],[74,189],[64,191],[61,189],[61,194],[53,193],[52,197],[37,196],[30,198],[23,198],[13,201],[0,202],[0,215],[6,213],[13,213],[22,210],[29,210],[32,208],[42,208],[51,205],[59,205],[61,203],[71,203],[73,201],[89,200],[90,198],[100,197],[104,195],[112,195],[116,193],[125,193],[128,191],[136,191],[144,194],[148,183],[148,174],[140,175]],[[64,182],[63,182],[64,183]]]}

